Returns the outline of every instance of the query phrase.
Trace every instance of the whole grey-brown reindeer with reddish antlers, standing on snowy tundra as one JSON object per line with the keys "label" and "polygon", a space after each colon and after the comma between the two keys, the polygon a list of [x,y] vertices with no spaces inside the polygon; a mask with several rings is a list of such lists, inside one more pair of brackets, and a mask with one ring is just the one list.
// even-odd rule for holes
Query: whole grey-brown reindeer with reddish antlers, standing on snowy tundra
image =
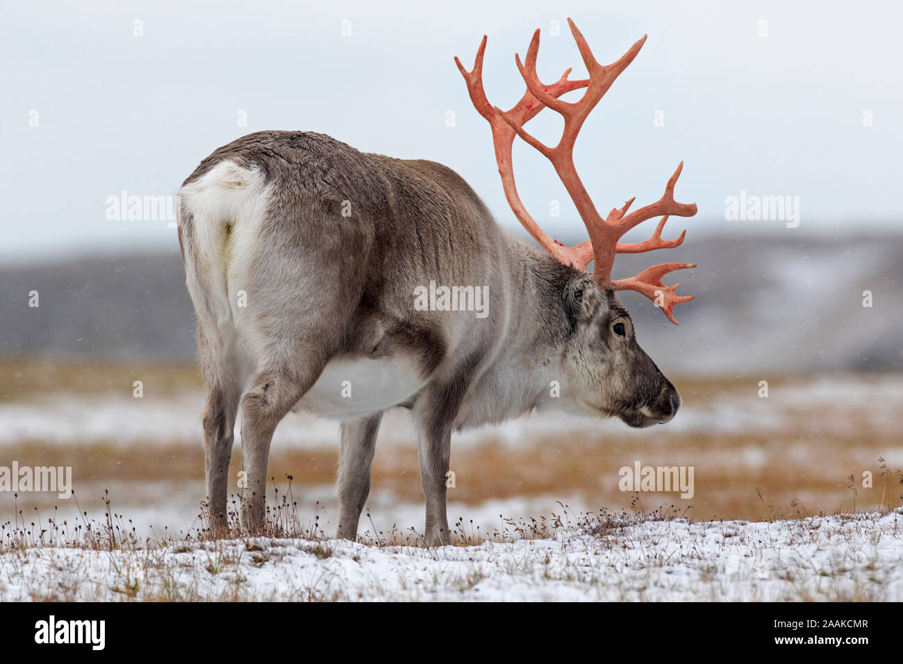
{"label": "whole grey-brown reindeer with reddish antlers, standing on snowy tundra", "polygon": [[[639,347],[616,292],[646,295],[676,324],[674,305],[692,296],[675,295],[677,285],[661,279],[695,266],[667,263],[617,280],[611,268],[617,254],[680,245],[685,231],[664,240],[662,230],[668,215],[693,216],[696,205],[675,202],[681,164],[659,201],[628,212],[631,199],[605,217],[596,210],[573,164],[574,141],[646,37],[603,66],[568,23],[589,78],[570,80],[567,70],[542,83],[537,30],[526,61],[516,58],[526,92],[507,112],[483,90],[486,37],[472,70],[455,58],[489,121],[507,201],[545,253],[500,229],[467,182],[442,164],[364,154],[322,134],[244,136],[210,154],[182,184],[179,240],[207,387],[203,448],[217,533],[228,531],[239,409],[242,527],[262,528],[273,432],[290,410],[303,410],[340,421],[338,536],[356,538],[380,419],[389,408],[407,408],[418,425],[428,546],[451,541],[445,500],[453,430],[550,407],[618,416],[628,426],[675,416],[680,397]],[[560,99],[576,89],[585,89],[580,100]],[[524,130],[545,107],[564,119],[554,147]],[[526,211],[511,163],[515,136],[552,162],[587,241],[563,247]],[[651,238],[619,242],[656,217]],[[481,287],[488,314],[415,307],[418,289],[431,282]]]}

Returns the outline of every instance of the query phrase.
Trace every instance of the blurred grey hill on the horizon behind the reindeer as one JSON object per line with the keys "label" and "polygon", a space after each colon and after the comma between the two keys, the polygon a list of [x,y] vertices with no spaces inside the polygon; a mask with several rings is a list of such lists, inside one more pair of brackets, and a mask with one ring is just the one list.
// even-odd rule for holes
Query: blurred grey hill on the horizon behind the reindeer
{"label": "blurred grey hill on the horizon behind the reindeer", "polygon": [[[675,231],[676,232],[676,231]],[[666,231],[666,236],[668,235]],[[903,241],[693,238],[667,257],[618,258],[615,276],[657,262],[696,295],[675,328],[641,295],[622,294],[658,365],[684,373],[903,369]],[[40,306],[30,308],[29,292]],[[873,305],[862,306],[862,292]],[[491,303],[491,294],[490,294]],[[0,267],[0,356],[192,360],[195,323],[178,248]]]}

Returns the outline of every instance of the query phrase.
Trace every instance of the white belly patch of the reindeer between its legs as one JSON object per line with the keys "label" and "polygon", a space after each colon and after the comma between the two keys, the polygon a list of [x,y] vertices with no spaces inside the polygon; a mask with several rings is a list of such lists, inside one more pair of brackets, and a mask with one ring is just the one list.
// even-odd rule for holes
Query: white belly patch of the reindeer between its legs
{"label": "white belly patch of the reindeer between its legs", "polygon": [[303,410],[330,419],[355,419],[407,401],[425,383],[414,358],[344,356],[330,360],[293,411]]}

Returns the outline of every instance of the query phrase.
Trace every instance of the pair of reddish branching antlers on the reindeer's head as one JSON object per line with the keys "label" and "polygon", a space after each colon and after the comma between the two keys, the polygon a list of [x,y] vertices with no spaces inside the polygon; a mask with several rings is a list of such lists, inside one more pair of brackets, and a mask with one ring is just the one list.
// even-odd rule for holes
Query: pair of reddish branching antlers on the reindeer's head
{"label": "pair of reddish branching antlers on the reindeer's head", "polygon": [[[461,75],[467,82],[470,99],[473,101],[474,107],[477,108],[481,116],[489,121],[489,126],[492,128],[498,173],[502,178],[502,186],[505,189],[508,204],[530,235],[546,251],[565,265],[586,269],[587,265],[592,260],[595,260],[592,277],[599,285],[612,290],[634,290],[642,293],[656,303],[656,306],[662,308],[668,320],[677,324],[673,313],[674,305],[692,300],[693,296],[682,297],[675,295],[675,288],[680,284],[666,286],[662,284],[661,277],[674,270],[695,267],[695,265],[690,263],[666,263],[650,267],[640,272],[637,276],[617,281],[611,280],[611,267],[614,264],[616,254],[635,254],[654,249],[673,248],[684,241],[685,230],[675,240],[664,240],[661,236],[668,215],[692,217],[696,213],[695,203],[678,203],[674,199],[675,183],[681,169],[684,167],[683,162],[677,167],[671,179],[668,180],[665,193],[661,199],[628,214],[628,209],[634,201],[634,199],[630,199],[624,204],[624,207],[611,210],[604,219],[596,210],[595,205],[593,205],[590,195],[583,186],[573,164],[573,145],[583,126],[583,122],[589,116],[592,108],[608,92],[611,84],[614,83],[619,74],[627,69],[628,64],[637,56],[643,43],[646,42],[646,35],[634,43],[619,61],[603,66],[593,58],[586,40],[583,39],[583,35],[577,30],[570,18],[568,19],[568,24],[571,26],[571,33],[573,33],[574,41],[577,42],[577,48],[580,50],[583,63],[590,73],[590,78],[568,80],[567,77],[571,72],[569,69],[564,72],[561,79],[552,85],[542,83],[536,75],[536,54],[539,51],[539,31],[537,30],[533,34],[533,40],[530,42],[529,49],[526,51],[526,62],[522,63],[520,56],[515,56],[517,69],[520,70],[521,76],[523,76],[526,83],[526,93],[517,102],[517,105],[507,112],[500,110],[498,107],[492,107],[486,98],[486,93],[483,91],[482,69],[483,53],[486,50],[485,36],[479,44],[479,51],[477,51],[477,58],[474,61],[472,71],[468,72],[465,70],[458,58],[455,58],[455,62],[458,64],[458,69],[461,70]],[[586,92],[583,93],[582,98],[578,101],[572,103],[559,99],[565,92],[580,88],[586,88]],[[561,114],[564,119],[564,130],[561,140],[554,147],[549,147],[536,140],[534,136],[528,134],[523,128],[530,118],[534,117],[546,106]],[[533,145],[536,150],[544,154],[552,162],[555,172],[561,178],[564,188],[571,196],[583,223],[586,225],[590,235],[588,241],[574,247],[564,247],[550,238],[526,211],[526,208],[520,201],[520,197],[517,195],[511,164],[511,147],[516,134],[524,139],[526,143]],[[656,231],[651,238],[645,242],[632,244],[624,244],[618,241],[628,230],[653,217],[662,217],[662,220],[659,221]]]}

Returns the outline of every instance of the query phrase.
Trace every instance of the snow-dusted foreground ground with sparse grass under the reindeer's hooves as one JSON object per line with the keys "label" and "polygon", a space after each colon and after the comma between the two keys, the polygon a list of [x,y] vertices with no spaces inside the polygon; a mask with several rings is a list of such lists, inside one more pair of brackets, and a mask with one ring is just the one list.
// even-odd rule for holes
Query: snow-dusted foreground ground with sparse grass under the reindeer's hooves
{"label": "snow-dusted foreground ground with sparse grass under the reindeer's hooves", "polygon": [[903,511],[774,522],[603,518],[545,538],[246,538],[0,555],[0,600],[900,601]]}

